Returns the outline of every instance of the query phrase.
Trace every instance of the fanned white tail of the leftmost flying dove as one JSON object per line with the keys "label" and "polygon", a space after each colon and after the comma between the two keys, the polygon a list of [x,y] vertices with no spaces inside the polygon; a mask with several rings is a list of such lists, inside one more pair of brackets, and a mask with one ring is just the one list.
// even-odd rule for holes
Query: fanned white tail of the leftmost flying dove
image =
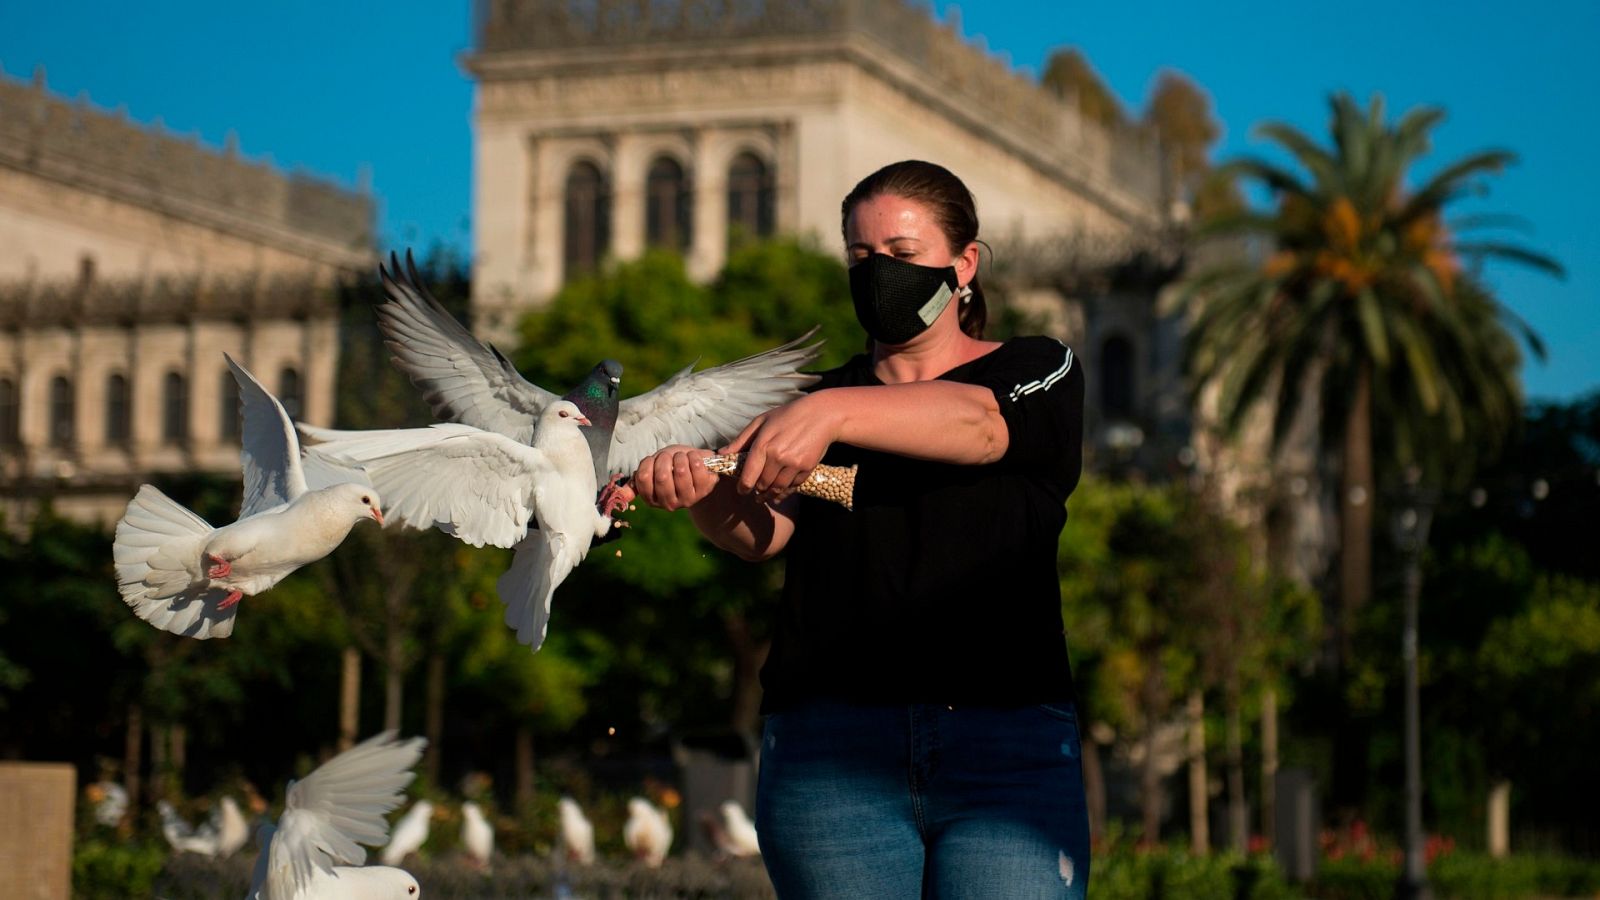
{"label": "fanned white tail of the leftmost flying dove", "polygon": [[210,588],[200,554],[211,525],[150,485],[141,485],[117,522],[112,557],[117,589],[134,615],[187,637],[227,637],[234,610],[218,609],[227,591]]}

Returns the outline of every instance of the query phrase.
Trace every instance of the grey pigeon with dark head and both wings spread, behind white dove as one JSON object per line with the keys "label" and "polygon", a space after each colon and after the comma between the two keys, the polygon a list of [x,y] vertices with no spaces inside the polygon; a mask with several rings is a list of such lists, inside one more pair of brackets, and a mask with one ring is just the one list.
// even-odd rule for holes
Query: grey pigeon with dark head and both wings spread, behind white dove
{"label": "grey pigeon with dark head and both wings spread, behind white dove", "polygon": [[[638,461],[670,444],[720,447],[744,431],[752,418],[802,396],[818,376],[798,372],[821,354],[822,343],[802,346],[811,328],[779,348],[726,365],[694,372],[694,365],[654,389],[618,400],[622,367],[603,360],[565,397],[525,380],[493,344],[472,336],[426,287],[411,253],[405,272],[389,255],[390,271],[381,271],[387,303],[376,307],[394,364],[422,391],[434,415],[494,431],[523,444],[533,439],[539,413],[565,399],[594,423],[589,440],[605,448],[595,453],[595,484],[632,472]],[[614,420],[614,426],[611,421]]]}

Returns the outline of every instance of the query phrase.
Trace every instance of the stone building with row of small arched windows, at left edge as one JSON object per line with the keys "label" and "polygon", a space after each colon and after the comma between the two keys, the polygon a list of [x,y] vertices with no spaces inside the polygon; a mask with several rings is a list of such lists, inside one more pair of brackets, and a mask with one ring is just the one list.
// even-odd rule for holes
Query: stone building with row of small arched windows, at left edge
{"label": "stone building with row of small arched windows, at left edge", "polygon": [[371,234],[365,191],[0,74],[0,512],[109,524],[152,474],[237,476],[222,351],[330,423]]}

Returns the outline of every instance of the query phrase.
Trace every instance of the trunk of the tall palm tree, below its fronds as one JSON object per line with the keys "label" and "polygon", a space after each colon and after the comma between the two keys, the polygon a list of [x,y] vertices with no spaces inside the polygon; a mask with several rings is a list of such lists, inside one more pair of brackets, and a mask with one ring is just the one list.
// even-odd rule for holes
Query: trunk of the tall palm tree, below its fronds
{"label": "trunk of the tall palm tree, below its fronds", "polygon": [[1373,594],[1373,375],[1355,376],[1344,423],[1344,477],[1339,496],[1339,663],[1349,666],[1355,618]]}

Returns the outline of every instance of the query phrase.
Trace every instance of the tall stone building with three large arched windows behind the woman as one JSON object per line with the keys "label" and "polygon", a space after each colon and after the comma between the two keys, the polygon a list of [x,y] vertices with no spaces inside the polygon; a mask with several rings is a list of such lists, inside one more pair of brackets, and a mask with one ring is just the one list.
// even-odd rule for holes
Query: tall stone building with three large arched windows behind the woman
{"label": "tall stone building with three large arched windows behind the woman", "polygon": [[990,293],[1088,360],[1094,440],[1182,431],[1155,135],[1101,128],[904,0],[480,0],[475,18],[480,335],[509,340],[573,275],[653,245],[699,279],[739,234],[840,247],[850,187],[928,159],[978,197]]}

